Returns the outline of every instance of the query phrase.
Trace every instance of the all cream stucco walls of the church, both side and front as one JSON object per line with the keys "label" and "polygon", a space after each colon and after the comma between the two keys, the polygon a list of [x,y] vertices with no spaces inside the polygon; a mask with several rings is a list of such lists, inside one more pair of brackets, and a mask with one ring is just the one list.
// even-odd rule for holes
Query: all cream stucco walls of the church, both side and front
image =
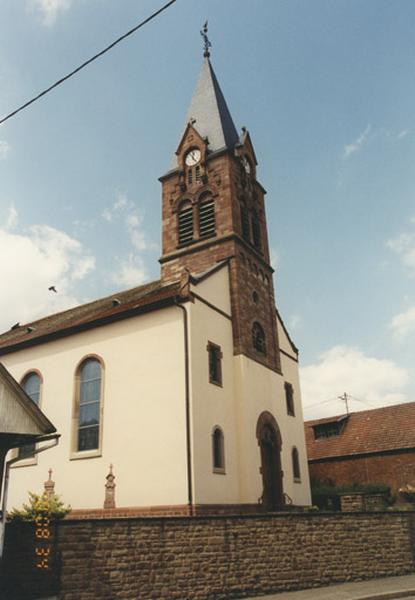
{"label": "all cream stucco walls of the church, both side and front", "polygon": [[[282,436],[284,492],[309,504],[309,482],[298,363],[279,324],[282,375],[234,356],[228,267],[192,286],[188,316],[192,491],[196,504],[257,503],[262,494],[258,418],[269,411]],[[214,310],[211,305],[217,306]],[[187,454],[183,311],[164,308],[2,357],[18,380],[30,370],[43,379],[40,407],[61,434],[59,446],[12,469],[9,507],[40,492],[53,469],[56,491],[73,508],[101,508],[105,477],[114,465],[117,506],[186,504]],[[207,344],[220,346],[223,385],[209,382]],[[102,452],[75,453],[72,423],[75,373],[88,355],[103,368]],[[287,415],[284,382],[294,389]],[[225,473],[213,470],[212,432],[225,438]],[[301,482],[291,451],[298,449]],[[25,463],[21,463],[24,465]]]}

